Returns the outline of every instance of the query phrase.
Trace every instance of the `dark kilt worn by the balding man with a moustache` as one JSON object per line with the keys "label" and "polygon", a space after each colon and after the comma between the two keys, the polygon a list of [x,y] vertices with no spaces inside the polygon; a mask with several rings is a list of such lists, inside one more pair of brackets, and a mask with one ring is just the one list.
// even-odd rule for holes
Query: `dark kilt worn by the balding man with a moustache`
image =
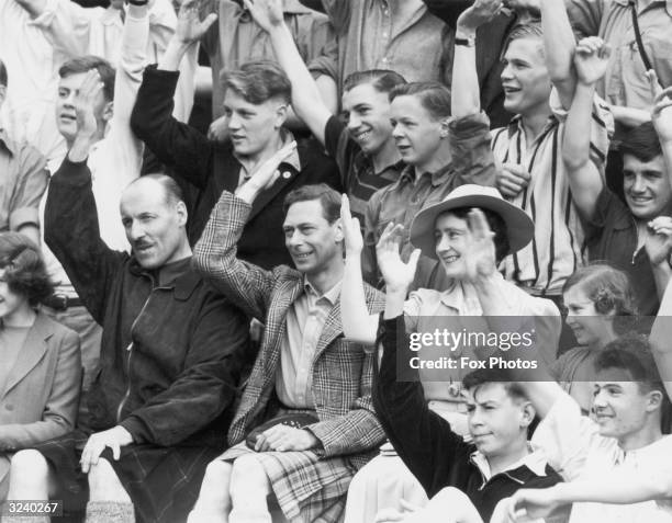
{"label": "dark kilt worn by the balding man with a moustache", "polygon": [[[56,471],[54,499],[63,500],[68,513],[83,511],[89,497],[87,475],[79,458],[88,435],[81,431],[37,445]],[[222,448],[152,444],[121,448],[117,462],[105,448],[108,459],[135,507],[137,523],[183,523],[195,503],[205,467]]]}

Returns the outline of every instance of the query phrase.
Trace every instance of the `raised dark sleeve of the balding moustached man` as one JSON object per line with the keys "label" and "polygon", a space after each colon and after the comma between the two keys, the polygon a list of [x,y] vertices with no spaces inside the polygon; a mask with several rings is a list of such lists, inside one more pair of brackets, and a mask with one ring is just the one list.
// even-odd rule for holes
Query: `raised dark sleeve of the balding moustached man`
{"label": "raised dark sleeve of the balding moustached man", "polygon": [[100,238],[91,171],[67,157],[52,178],[44,211],[44,239],[93,319],[102,325],[109,289],[127,259]]}

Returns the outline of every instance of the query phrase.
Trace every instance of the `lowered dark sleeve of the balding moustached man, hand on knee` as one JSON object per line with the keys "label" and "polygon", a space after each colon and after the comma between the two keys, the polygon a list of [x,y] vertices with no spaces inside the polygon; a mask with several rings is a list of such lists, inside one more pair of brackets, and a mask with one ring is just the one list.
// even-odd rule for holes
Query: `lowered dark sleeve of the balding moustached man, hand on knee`
{"label": "lowered dark sleeve of the balding moustached man, hand on knee", "polygon": [[136,443],[163,446],[206,428],[235,399],[248,339],[245,316],[226,298],[209,292],[192,327],[182,373],[120,424]]}

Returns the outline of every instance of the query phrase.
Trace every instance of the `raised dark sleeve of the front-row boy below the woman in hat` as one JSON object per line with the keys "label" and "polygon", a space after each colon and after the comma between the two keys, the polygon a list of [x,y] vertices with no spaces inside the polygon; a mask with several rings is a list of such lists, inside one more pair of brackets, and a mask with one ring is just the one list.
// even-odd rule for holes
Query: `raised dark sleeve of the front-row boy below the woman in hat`
{"label": "raised dark sleeve of the front-row boy below the woman in hat", "polygon": [[388,439],[429,497],[446,486],[451,469],[469,455],[450,423],[432,412],[419,380],[397,380],[397,345],[408,346],[403,317],[384,320],[383,355],[373,406]]}

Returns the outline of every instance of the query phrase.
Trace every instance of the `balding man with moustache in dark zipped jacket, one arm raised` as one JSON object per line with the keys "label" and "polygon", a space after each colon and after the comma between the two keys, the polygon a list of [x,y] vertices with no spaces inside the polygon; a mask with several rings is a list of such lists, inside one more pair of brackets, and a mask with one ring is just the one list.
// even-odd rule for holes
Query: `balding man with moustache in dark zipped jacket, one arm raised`
{"label": "balding man with moustache in dark zipped jacket, one arm raised", "polygon": [[122,195],[132,255],[100,237],[86,162],[99,90],[99,77],[87,73],[75,100],[80,125],[45,215],[48,246],[103,327],[89,397],[93,433],[15,454],[9,497],[44,500],[55,482],[55,499],[75,509],[88,479],[92,521],[128,521],[131,502],[141,521],[183,521],[206,463],[222,451],[248,329],[191,270],[186,206],[170,178],[141,178]]}

